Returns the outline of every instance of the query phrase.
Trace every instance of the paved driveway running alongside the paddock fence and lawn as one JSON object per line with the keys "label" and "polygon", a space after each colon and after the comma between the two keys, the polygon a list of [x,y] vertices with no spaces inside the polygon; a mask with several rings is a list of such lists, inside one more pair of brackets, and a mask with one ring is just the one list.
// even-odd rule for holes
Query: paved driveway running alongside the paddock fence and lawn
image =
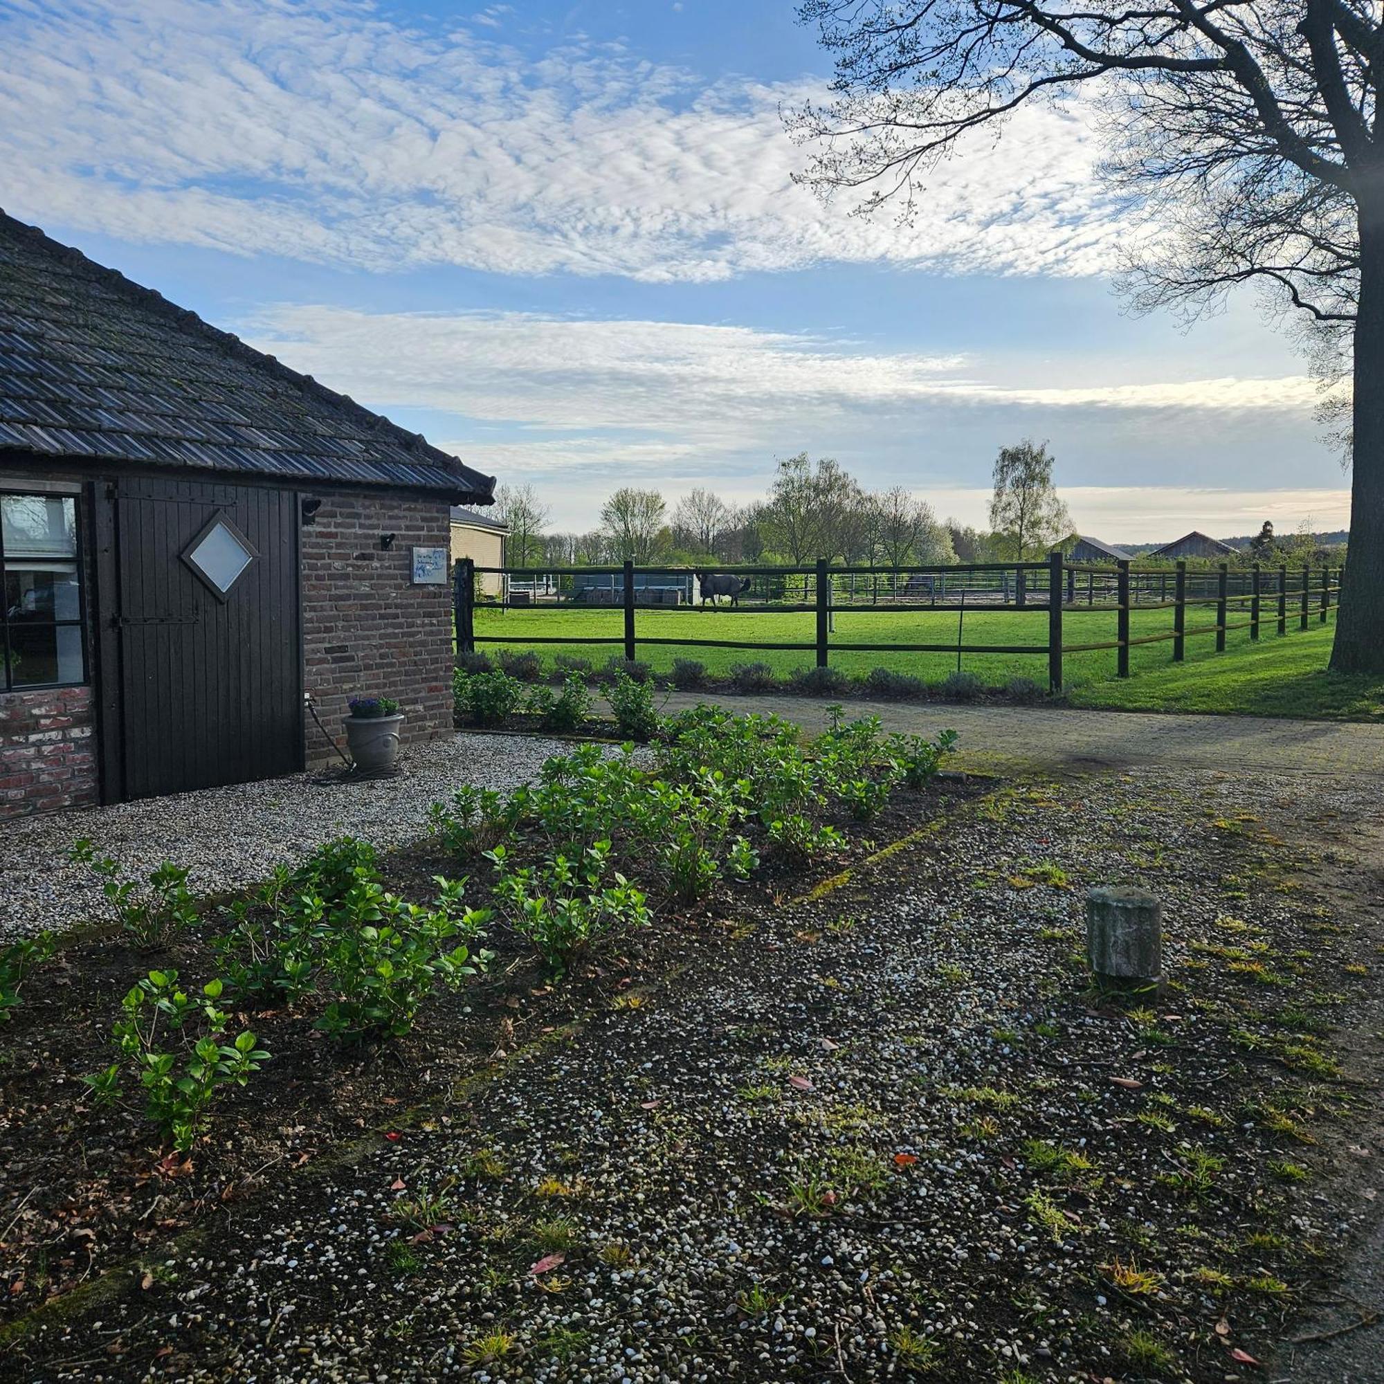
{"label": "paved driveway running alongside the paddock fence and lawn", "polygon": [[[774,693],[673,692],[664,710],[677,711],[698,702],[720,702],[738,711],[776,711],[808,729],[822,724],[828,704]],[[934,735],[951,727],[972,760],[996,756],[1063,768],[1165,764],[1384,776],[1384,725],[854,698],[843,704],[851,716],[877,716],[890,731]]]}

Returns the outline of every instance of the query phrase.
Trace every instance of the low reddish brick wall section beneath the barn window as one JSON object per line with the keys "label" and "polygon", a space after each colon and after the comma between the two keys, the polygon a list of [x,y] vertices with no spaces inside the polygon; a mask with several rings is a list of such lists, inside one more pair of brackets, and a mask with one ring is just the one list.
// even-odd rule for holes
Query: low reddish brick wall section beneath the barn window
{"label": "low reddish brick wall section beneath the barn window", "polygon": [[0,692],[0,818],[97,801],[91,689]]}

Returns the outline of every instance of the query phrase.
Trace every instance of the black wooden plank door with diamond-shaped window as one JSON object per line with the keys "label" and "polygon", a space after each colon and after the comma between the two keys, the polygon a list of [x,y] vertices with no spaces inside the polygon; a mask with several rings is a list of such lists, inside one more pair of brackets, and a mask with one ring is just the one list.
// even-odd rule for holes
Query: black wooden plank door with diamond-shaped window
{"label": "black wooden plank door with diamond-shaped window", "polygon": [[131,477],[94,508],[105,800],[302,768],[298,495]]}

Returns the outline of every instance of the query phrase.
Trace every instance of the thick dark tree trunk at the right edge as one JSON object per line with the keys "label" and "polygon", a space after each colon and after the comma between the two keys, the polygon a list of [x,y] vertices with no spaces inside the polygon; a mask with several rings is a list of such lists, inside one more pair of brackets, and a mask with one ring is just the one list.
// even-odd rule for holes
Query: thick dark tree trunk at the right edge
{"label": "thick dark tree trunk at the right edge", "polygon": [[1384,198],[1359,215],[1351,540],[1331,671],[1384,674]]}

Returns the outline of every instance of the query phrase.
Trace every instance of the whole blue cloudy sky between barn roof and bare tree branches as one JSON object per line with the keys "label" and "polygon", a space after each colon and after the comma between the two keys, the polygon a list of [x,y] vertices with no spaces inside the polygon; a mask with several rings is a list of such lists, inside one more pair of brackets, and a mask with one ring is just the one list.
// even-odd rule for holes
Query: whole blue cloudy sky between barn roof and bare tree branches
{"label": "whole blue cloudy sky between barn roof and bare tree branches", "polygon": [[747,500],[804,450],[983,522],[1023,436],[1110,541],[1345,523],[1251,295],[1122,313],[1080,107],[901,226],[790,183],[779,112],[828,76],[792,0],[0,0],[0,206],[561,527],[619,484]]}

